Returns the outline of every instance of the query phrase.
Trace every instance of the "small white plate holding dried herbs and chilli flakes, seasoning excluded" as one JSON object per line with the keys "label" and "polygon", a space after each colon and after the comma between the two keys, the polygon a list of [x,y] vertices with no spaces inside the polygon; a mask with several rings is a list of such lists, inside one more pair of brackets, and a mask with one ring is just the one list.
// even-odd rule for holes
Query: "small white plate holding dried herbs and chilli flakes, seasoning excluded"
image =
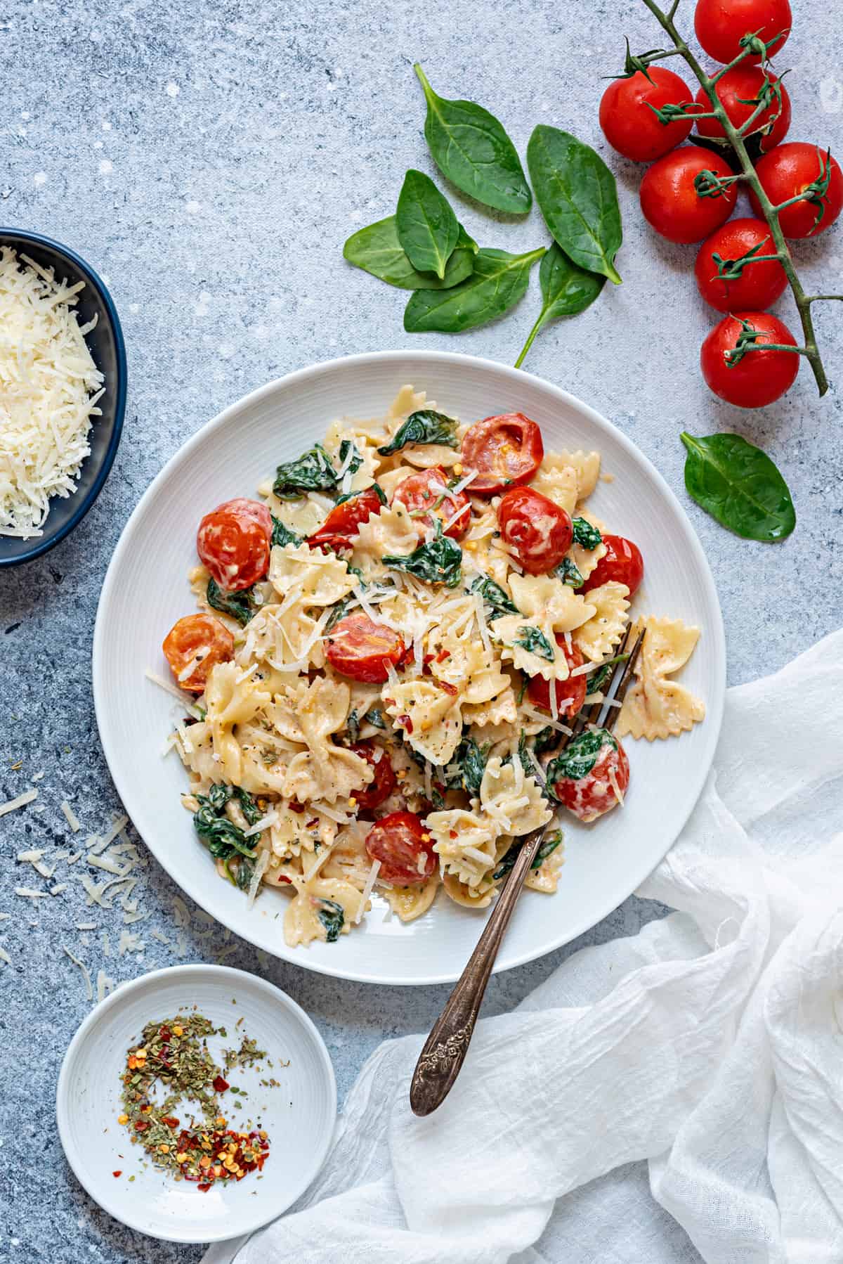
{"label": "small white plate holding dried herbs and chilli flakes, seasoning excluded", "polygon": [[[273,1062],[272,1069],[263,1063],[262,1072],[255,1067],[231,1073],[230,1082],[249,1093],[240,1111],[231,1093],[224,1098],[233,1126],[245,1124],[254,1112],[269,1134],[262,1179],[253,1172],[206,1193],[152,1164],[144,1167],[142,1146],[131,1145],[126,1129],[118,1124],[126,1050],[147,1023],[173,1018],[193,1005],[227,1031],[227,1039],[209,1040],[217,1060],[225,1045],[239,1044],[245,1034]],[[282,1067],[283,1062],[289,1066]],[[260,1079],[268,1077],[281,1087],[262,1087]],[[64,1054],[56,1111],[67,1162],[109,1215],[152,1237],[214,1243],[253,1232],[305,1192],[331,1141],[336,1083],[325,1042],[279,988],[227,966],[176,966],[124,983],[88,1014]]]}

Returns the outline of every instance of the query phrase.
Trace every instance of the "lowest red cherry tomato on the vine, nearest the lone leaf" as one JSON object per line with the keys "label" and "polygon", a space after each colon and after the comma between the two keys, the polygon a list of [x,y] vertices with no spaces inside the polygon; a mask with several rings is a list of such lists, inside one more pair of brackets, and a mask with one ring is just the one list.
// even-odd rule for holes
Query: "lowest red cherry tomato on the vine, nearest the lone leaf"
{"label": "lowest red cherry tomato on the vine, nearest the lone leaf", "polygon": [[787,326],[770,312],[736,312],[724,316],[703,343],[700,368],[720,399],[741,408],[762,408],[791,388],[799,373],[799,355],[795,351],[747,351],[737,364],[729,365],[725,355],[738,341],[742,320],[760,331],[757,343],[761,346],[765,343],[796,346]]}

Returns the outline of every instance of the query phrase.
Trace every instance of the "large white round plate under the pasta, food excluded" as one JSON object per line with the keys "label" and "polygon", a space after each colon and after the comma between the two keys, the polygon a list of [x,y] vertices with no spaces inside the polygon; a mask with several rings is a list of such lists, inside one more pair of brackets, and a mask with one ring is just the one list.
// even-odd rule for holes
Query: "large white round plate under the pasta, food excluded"
{"label": "large white round plate under the pasta, food excluded", "polygon": [[633,444],[579,399],[528,373],[440,351],[382,351],[292,373],[246,396],[209,422],[173,456],[129,518],[100,598],[94,637],[94,696],[100,737],[126,811],[164,868],[203,909],[254,944],[300,966],[378,983],[440,983],[468,961],[485,913],[440,897],[403,925],[384,921],[375,899],[363,929],[335,944],[288,949],[279,910],[264,891],[252,911],[221,881],[179,803],[187,780],[176,755],[162,760],[173,703],[144,679],[168,675],[161,642],[195,608],[187,570],[196,527],[221,501],[254,495],[258,483],[322,439],[341,415],[383,415],[412,382],[464,421],[521,411],[541,426],[545,447],[598,449],[614,475],[589,499],[610,530],[641,547],[646,578],[633,609],[681,618],[703,629],[682,680],[705,699],[708,717],[667,742],[626,746],[632,786],[623,810],[594,825],[573,817],[554,896],[526,892],[500,949],[508,969],[567,943],[616,909],[664,857],[703,787],[720,728],[725,689],[723,621],[699,541],[664,479]]}

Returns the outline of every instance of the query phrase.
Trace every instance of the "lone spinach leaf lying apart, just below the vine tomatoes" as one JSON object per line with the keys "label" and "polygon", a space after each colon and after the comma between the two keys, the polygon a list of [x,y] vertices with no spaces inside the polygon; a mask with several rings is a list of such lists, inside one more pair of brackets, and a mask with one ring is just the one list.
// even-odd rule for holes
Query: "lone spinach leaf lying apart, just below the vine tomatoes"
{"label": "lone spinach leaf lying apart, just below the vine tomatoes", "polygon": [[685,487],[722,527],[744,540],[785,540],[796,526],[790,492],[766,453],[739,435],[694,439],[688,449]]}

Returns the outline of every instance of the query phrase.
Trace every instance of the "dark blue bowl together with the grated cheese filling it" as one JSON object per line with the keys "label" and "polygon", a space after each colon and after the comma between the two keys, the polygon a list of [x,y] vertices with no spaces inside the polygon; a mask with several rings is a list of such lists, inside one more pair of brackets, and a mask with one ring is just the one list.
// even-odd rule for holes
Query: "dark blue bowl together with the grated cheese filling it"
{"label": "dark blue bowl together with the grated cheese filling it", "polygon": [[67,246],[0,229],[0,568],[47,552],[120,442],[126,353],[111,296]]}

